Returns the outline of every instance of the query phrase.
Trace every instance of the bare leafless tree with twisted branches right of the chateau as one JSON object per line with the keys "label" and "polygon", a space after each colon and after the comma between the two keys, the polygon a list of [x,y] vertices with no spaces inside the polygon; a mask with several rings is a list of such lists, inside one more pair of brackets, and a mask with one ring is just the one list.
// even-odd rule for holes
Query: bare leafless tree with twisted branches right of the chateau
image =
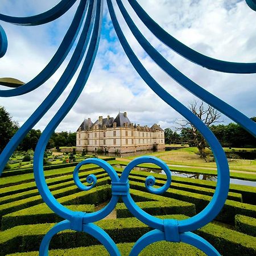
{"label": "bare leafless tree with twisted branches right of the chateau", "polygon": [[[218,121],[221,114],[212,106],[204,105],[203,101],[200,105],[197,101],[193,101],[189,104],[189,109],[208,127],[213,123],[221,122]],[[177,130],[181,130],[181,134],[187,139],[189,144],[198,148],[200,158],[203,158],[205,162],[207,162],[207,152],[205,151],[205,148],[209,148],[209,145],[197,128],[187,120],[181,120],[176,123],[180,126]]]}

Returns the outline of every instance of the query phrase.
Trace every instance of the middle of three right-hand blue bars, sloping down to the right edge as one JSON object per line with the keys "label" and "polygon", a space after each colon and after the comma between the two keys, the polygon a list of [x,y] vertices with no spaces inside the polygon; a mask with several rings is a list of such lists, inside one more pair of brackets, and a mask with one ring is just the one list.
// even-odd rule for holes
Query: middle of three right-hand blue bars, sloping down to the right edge
{"label": "middle of three right-hand blue bars, sloping down to the right edge", "polygon": [[141,44],[144,51],[148,53],[148,55],[155,61],[156,64],[159,65],[160,68],[163,69],[169,76],[171,76],[176,82],[178,82],[181,86],[189,90],[189,92],[193,93],[195,96],[201,98],[201,100],[207,102],[212,105],[213,108],[225,114],[233,121],[239,123],[244,129],[249,131],[249,133],[256,136],[256,123],[250,118],[246,117],[246,115],[239,112],[237,109],[233,108],[226,102],[220,100],[220,98],[214,96],[209,93],[207,90],[201,88],[198,84],[193,82],[187,76],[183,75],[178,69],[176,69],[171,63],[169,63],[151,44],[144,38],[142,33],[135,26],[133,20],[130,15],[127,13],[125,7],[121,0],[116,0],[118,7],[125,19],[127,25],[129,26],[131,32],[138,40],[139,44]]}

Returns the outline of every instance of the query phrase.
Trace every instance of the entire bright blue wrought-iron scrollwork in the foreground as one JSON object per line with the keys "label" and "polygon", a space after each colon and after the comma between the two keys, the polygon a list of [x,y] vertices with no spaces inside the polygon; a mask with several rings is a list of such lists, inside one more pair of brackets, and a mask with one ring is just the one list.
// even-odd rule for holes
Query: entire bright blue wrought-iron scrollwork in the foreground
{"label": "entire bright blue wrought-iron scrollwork in the foreground", "polygon": [[[75,2],[78,0],[62,0],[52,9],[35,16],[28,17],[14,17],[0,14],[0,20],[2,20],[2,25],[4,22],[9,22],[16,24],[18,26],[38,26],[39,24],[46,24],[59,18],[61,15],[66,13]],[[213,94],[209,93],[207,90],[203,89],[200,85],[196,84],[194,81],[190,80],[187,76],[183,75],[179,70],[177,70],[171,63],[169,63],[151,44],[144,38],[141,32],[138,30],[133,20],[131,19],[129,13],[127,12],[122,0],[106,0],[109,14],[113,22],[115,32],[117,33],[119,42],[121,43],[127,57],[133,64],[135,70],[138,72],[139,76],[147,83],[148,86],[160,97],[163,101],[167,102],[172,108],[183,115],[189,122],[193,123],[203,134],[204,138],[209,143],[212,148],[214,158],[217,164],[217,187],[212,197],[212,200],[207,205],[207,207],[201,211],[196,216],[188,218],[187,220],[174,220],[174,219],[159,219],[151,216],[150,214],[144,212],[141,208],[135,204],[129,193],[129,174],[130,171],[141,163],[154,163],[161,167],[167,175],[166,184],[161,188],[154,188],[155,178],[153,176],[148,176],[145,182],[146,188],[149,192],[160,194],[165,192],[171,185],[171,172],[168,166],[157,158],[152,156],[143,156],[141,158],[134,159],[130,162],[125,170],[122,172],[121,177],[118,177],[117,172],[113,169],[110,164],[104,162],[100,159],[87,159],[79,163],[74,172],[74,181],[81,190],[88,191],[92,189],[96,183],[97,179],[94,175],[89,175],[87,177],[87,182],[90,186],[85,186],[79,180],[79,169],[82,165],[93,163],[102,167],[110,176],[112,180],[112,198],[105,208],[94,213],[85,212],[74,212],[61,205],[55,197],[49,191],[46,184],[46,179],[43,172],[43,155],[46,149],[47,142],[51,137],[51,134],[63,120],[65,115],[71,110],[72,106],[75,104],[77,98],[80,96],[82,89],[84,88],[86,81],[92,70],[94,60],[96,57],[98,44],[100,41],[100,32],[102,25],[102,10],[103,10],[103,0],[80,0],[77,7],[76,13],[73,17],[71,26],[68,28],[63,41],[61,42],[59,48],[57,49],[55,55],[52,57],[51,61],[46,65],[46,67],[40,72],[34,79],[27,82],[22,86],[17,86],[13,89],[0,90],[1,97],[14,97],[22,94],[26,94],[35,90],[39,86],[42,86],[49,77],[51,77],[57,69],[60,67],[61,63],[65,60],[68,53],[71,51],[73,44],[79,31],[78,43],[73,51],[71,60],[65,68],[65,71],[61,75],[59,81],[56,83],[55,87],[52,89],[51,93],[47,98],[40,104],[38,109],[28,118],[28,120],[20,127],[17,133],[13,136],[10,142],[7,144],[5,149],[0,155],[0,174],[2,173],[5,164],[9,160],[10,156],[13,154],[14,150],[18,146],[19,142],[25,137],[25,135],[34,127],[34,125],[43,117],[43,115],[51,108],[57,98],[60,97],[64,89],[68,86],[72,77],[75,75],[80,64],[82,64],[81,71],[75,85],[73,86],[71,93],[65,100],[64,104],[60,107],[59,111],[55,114],[52,120],[48,123],[46,129],[43,131],[35,150],[34,156],[34,175],[36,185],[49,208],[51,208],[56,214],[63,217],[65,220],[59,222],[43,238],[40,245],[39,254],[48,255],[48,245],[51,238],[57,232],[65,229],[72,229],[80,232],[85,232],[102,243],[109,251],[110,255],[120,255],[117,245],[115,245],[112,238],[101,229],[99,226],[93,224],[93,222],[101,220],[107,216],[115,208],[119,197],[122,197],[123,202],[130,212],[141,220],[144,224],[147,224],[154,230],[144,234],[133,246],[130,255],[138,255],[140,251],[144,249],[147,245],[154,243],[156,241],[171,241],[171,242],[185,242],[190,245],[197,247],[198,249],[204,251],[207,255],[220,255],[216,249],[210,243],[205,241],[200,236],[192,233],[194,230],[201,228],[202,226],[208,224],[210,221],[217,216],[217,214],[222,209],[229,190],[229,167],[226,156],[220,143],[214,137],[213,133],[208,129],[204,123],[197,118],[190,110],[188,110],[184,105],[182,105],[176,98],[172,97],[171,94],[166,92],[161,85],[156,82],[153,77],[147,72],[146,68],[143,67],[142,63],[138,60],[137,56],[127,43],[125,35],[119,26],[115,11],[113,8],[113,2],[117,4],[123,18],[125,19],[127,25],[129,26],[131,32],[141,44],[144,51],[147,52],[148,56],[159,65],[172,79],[177,81],[181,86],[189,90],[189,92],[195,94],[197,97],[201,98],[204,102],[212,105],[214,108],[228,116],[233,121],[239,123],[244,127],[249,133],[256,136],[256,125],[251,119],[247,118],[238,110],[234,109],[232,106],[226,104],[220,98],[217,98]],[[128,0],[130,6],[133,8],[135,13],[141,19],[141,21],[146,25],[146,27],[162,41],[166,46],[179,55],[185,57],[186,59],[192,61],[197,65],[201,65],[208,69],[213,69],[218,72],[226,73],[256,73],[256,63],[233,63],[228,61],[222,61],[213,59],[211,57],[205,56],[193,49],[185,46],[177,39],[172,37],[166,31],[163,30],[154,20],[148,16],[148,14],[142,9],[142,7],[135,0]],[[256,0],[246,0],[247,4],[251,9],[256,11]],[[7,36],[5,30],[0,25],[0,57],[3,57],[7,51]]]}

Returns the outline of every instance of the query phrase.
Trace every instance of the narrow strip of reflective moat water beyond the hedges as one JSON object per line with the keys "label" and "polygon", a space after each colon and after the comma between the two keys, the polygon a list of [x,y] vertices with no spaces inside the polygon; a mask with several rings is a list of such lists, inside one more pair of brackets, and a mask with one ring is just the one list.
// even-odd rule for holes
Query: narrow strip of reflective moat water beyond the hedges
{"label": "narrow strip of reflective moat water beyond the hedges", "polygon": [[[124,168],[120,164],[115,164],[114,167]],[[154,168],[135,167],[133,170],[135,170],[135,171],[146,171],[146,172],[151,172],[151,173],[154,173],[154,174],[163,174],[163,175],[165,175],[163,170],[157,170],[157,169],[154,169]],[[171,171],[171,174],[173,176],[188,177],[188,178],[191,178],[191,179],[217,181],[217,176],[212,176],[212,175],[191,174],[191,173],[188,174],[188,173],[185,173],[185,172],[174,172],[174,171]],[[247,185],[247,186],[251,186],[251,187],[256,187],[256,182],[255,181],[250,181],[250,180],[240,180],[240,179],[231,179],[230,178],[230,184]]]}

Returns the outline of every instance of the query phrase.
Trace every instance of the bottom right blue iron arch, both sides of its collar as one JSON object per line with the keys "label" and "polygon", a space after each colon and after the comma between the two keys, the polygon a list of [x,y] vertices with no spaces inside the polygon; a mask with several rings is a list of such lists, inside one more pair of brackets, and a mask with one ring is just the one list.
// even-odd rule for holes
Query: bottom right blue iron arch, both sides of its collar
{"label": "bottom right blue iron arch, both sides of its collar", "polygon": [[[151,243],[159,241],[166,241],[166,235],[160,230],[152,230],[139,238],[139,240],[131,249],[130,255],[137,256],[145,247],[147,247]],[[220,253],[218,253],[218,251],[208,241],[204,240],[204,238],[201,238],[194,233],[186,232],[180,234],[180,242],[188,243],[189,245],[195,246],[208,256],[220,256]]]}

